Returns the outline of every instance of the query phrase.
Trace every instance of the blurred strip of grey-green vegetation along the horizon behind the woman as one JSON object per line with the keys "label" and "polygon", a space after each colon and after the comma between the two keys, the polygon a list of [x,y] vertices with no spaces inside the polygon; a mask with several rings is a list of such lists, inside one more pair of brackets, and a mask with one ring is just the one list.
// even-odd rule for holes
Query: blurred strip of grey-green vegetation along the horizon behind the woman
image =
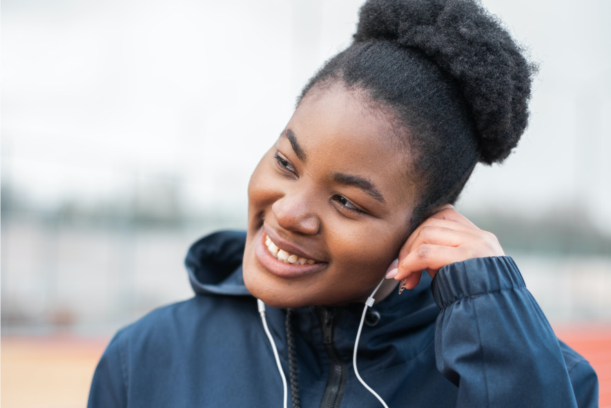
{"label": "blurred strip of grey-green vegetation along the horizon behind the woman", "polygon": [[[225,208],[186,211],[174,188],[157,190],[144,197],[134,195],[124,200],[99,202],[94,205],[77,201],[45,207],[16,194],[3,185],[1,192],[3,219],[28,217],[43,224],[67,224],[91,228],[113,228],[129,225],[132,228],[161,227],[164,229],[192,229],[195,226],[240,228],[246,224],[244,211],[235,213]],[[462,209],[461,209],[462,210]],[[599,229],[579,206],[550,208],[541,217],[526,217],[501,211],[464,211],[465,216],[481,229],[493,232],[507,252],[540,255],[609,255],[611,235]]]}

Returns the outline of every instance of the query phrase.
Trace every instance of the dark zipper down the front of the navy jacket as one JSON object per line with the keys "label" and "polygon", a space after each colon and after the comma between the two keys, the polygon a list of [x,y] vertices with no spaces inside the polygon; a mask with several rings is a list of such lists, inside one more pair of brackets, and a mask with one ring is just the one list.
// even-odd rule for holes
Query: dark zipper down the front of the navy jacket
{"label": "dark zipper down the front of the navy jacket", "polygon": [[327,380],[327,387],[324,389],[324,395],[320,403],[321,408],[339,407],[342,404],[342,397],[346,389],[346,365],[338,354],[333,338],[334,314],[332,310],[326,307],[318,307],[318,317],[320,318],[320,324],[322,324],[322,341],[329,358],[329,380]]}

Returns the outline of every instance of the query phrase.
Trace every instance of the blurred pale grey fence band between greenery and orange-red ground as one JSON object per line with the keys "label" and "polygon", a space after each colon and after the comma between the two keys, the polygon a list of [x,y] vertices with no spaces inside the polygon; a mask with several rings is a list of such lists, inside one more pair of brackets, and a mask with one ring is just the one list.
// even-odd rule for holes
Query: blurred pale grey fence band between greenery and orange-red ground
{"label": "blurred pale grey fence band between greenery and orange-red ground", "polygon": [[[110,336],[155,307],[190,297],[182,263],[188,246],[214,229],[242,225],[243,219],[222,214],[155,226],[8,213],[2,219],[2,331]],[[508,252],[552,322],[611,324],[610,255]]]}

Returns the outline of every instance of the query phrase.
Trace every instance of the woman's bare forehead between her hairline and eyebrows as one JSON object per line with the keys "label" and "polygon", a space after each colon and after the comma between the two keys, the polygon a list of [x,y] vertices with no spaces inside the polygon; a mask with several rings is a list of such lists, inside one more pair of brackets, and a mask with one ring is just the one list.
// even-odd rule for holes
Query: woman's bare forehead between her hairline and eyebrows
{"label": "woman's bare forehead between her hairline and eyebrows", "polygon": [[[365,95],[336,84],[309,92],[287,125],[309,171],[346,173],[374,182],[387,196],[405,193],[409,151],[393,118]],[[286,139],[286,138],[281,138]]]}

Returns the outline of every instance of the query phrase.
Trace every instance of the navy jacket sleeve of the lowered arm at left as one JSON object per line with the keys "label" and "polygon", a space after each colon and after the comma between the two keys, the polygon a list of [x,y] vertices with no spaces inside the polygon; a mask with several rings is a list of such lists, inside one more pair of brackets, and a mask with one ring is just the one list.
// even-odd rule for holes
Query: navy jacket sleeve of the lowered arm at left
{"label": "navy jacket sleeve of the lowered arm at left", "polygon": [[126,371],[122,358],[121,332],[110,340],[91,382],[87,408],[127,407]]}

